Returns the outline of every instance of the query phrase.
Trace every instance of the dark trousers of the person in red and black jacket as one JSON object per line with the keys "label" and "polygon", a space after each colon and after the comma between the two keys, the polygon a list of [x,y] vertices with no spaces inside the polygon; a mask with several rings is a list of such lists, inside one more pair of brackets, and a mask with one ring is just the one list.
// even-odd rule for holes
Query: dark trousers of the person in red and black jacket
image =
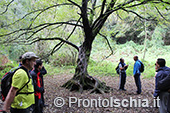
{"label": "dark trousers of the person in red and black jacket", "polygon": [[41,99],[35,96],[35,104],[33,105],[32,113],[43,113],[43,103]]}

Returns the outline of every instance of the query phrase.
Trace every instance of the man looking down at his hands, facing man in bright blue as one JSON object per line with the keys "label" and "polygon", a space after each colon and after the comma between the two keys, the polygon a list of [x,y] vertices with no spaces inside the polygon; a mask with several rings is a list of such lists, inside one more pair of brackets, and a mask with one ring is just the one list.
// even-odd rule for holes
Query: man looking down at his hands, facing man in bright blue
{"label": "man looking down at his hands, facing man in bright blue", "polygon": [[126,83],[126,69],[127,68],[128,68],[128,65],[125,64],[124,59],[120,58],[118,69],[119,69],[119,75],[120,75],[119,90],[121,91],[126,91],[125,83]]}

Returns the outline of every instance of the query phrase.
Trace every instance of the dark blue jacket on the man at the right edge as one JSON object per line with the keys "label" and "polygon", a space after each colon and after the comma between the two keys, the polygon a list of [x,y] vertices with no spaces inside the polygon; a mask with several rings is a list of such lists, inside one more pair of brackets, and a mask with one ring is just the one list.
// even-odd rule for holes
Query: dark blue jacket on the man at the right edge
{"label": "dark blue jacket on the man at the right edge", "polygon": [[154,97],[158,97],[160,93],[160,89],[158,88],[158,82],[164,79],[169,75],[170,68],[169,67],[160,67],[157,71],[156,77],[155,77],[155,90],[154,90]]}

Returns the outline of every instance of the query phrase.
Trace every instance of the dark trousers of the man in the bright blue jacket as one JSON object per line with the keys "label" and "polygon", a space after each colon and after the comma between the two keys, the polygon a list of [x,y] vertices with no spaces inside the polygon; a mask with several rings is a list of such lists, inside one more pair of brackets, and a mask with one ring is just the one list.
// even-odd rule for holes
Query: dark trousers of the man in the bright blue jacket
{"label": "dark trousers of the man in the bright blue jacket", "polygon": [[134,79],[135,79],[135,83],[136,83],[136,87],[137,87],[137,93],[140,94],[142,92],[140,74],[135,74]]}

